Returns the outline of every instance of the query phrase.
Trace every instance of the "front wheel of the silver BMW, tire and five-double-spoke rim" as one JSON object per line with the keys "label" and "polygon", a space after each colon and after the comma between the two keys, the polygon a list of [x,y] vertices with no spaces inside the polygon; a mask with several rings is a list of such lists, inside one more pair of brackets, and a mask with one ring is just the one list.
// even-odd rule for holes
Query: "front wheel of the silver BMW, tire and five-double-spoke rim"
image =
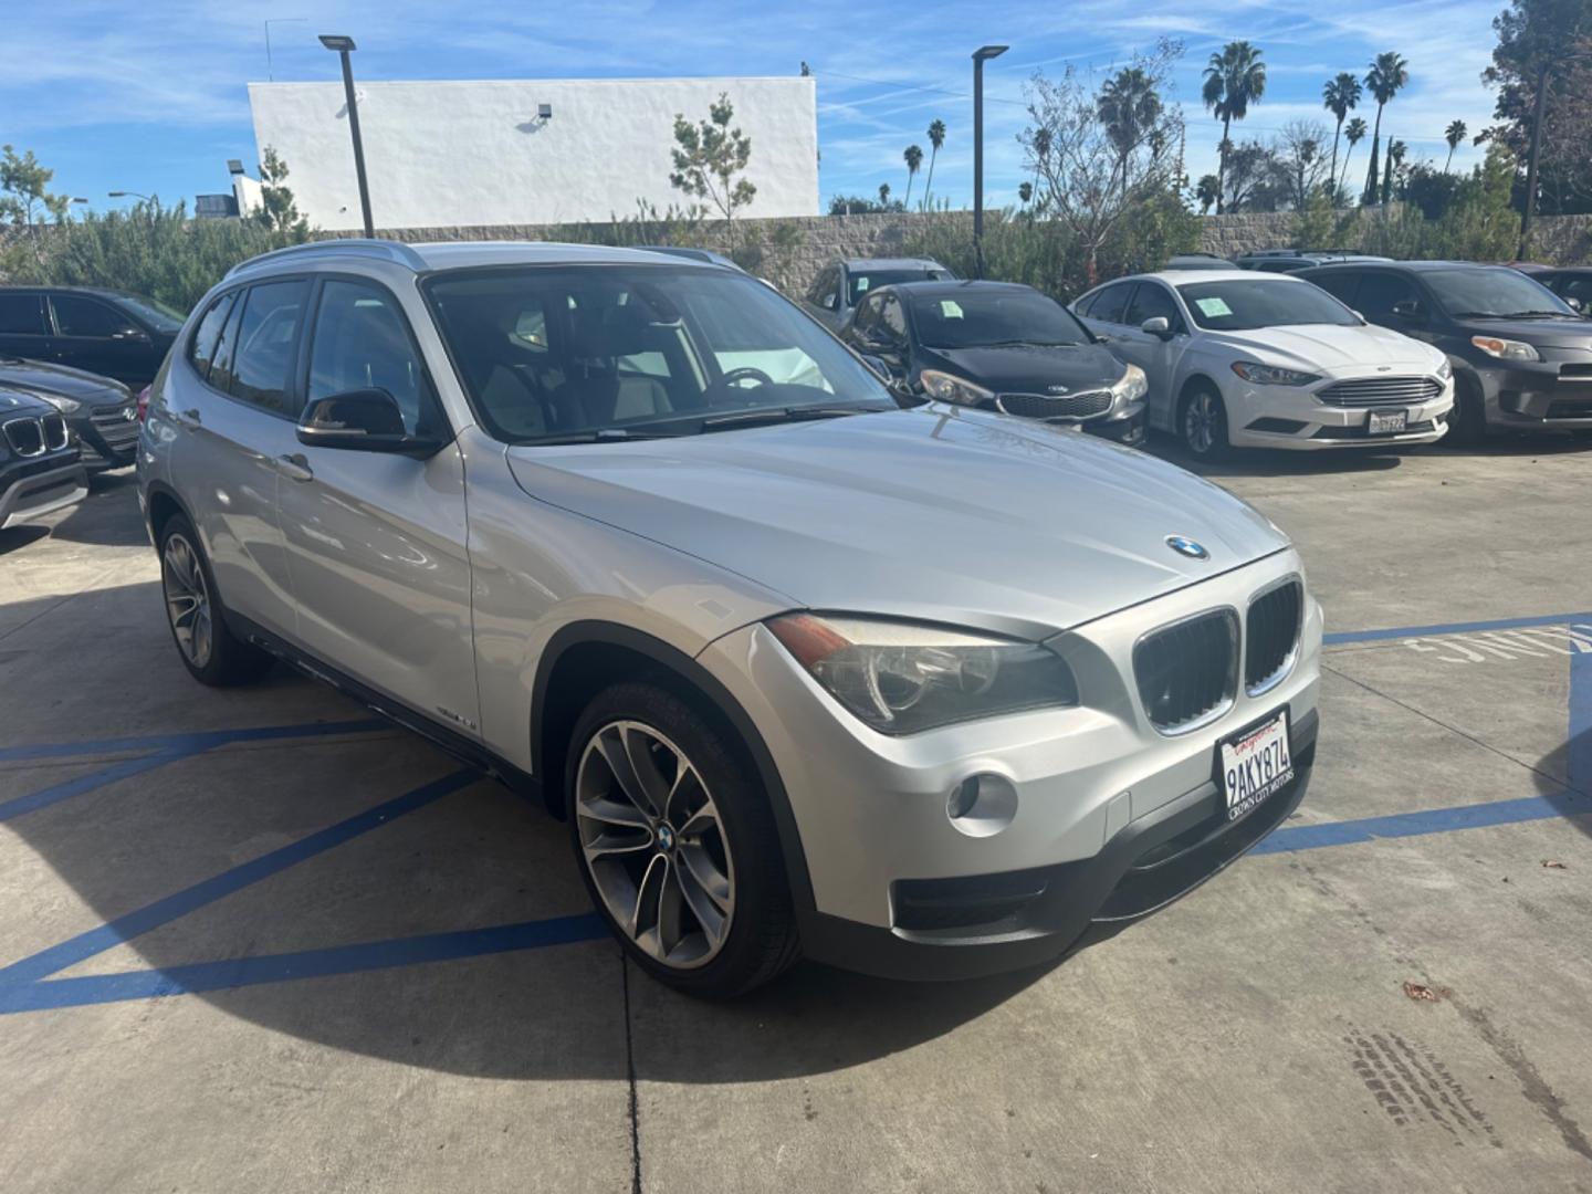
{"label": "front wheel of the silver BMW, tire and five-double-spoke rim", "polygon": [[720,718],[657,683],[619,683],[581,713],[565,801],[592,903],[662,982],[731,998],[796,960],[767,794]]}

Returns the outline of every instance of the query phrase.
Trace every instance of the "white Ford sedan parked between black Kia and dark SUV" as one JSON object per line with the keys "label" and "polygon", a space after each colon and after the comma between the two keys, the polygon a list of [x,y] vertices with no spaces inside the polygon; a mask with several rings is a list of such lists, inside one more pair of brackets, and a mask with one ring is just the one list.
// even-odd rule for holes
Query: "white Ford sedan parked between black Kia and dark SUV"
{"label": "white Ford sedan parked between black Kia and dark SUV", "polygon": [[1240,271],[1140,274],[1073,304],[1149,379],[1149,425],[1189,452],[1430,444],[1453,369],[1310,282]]}

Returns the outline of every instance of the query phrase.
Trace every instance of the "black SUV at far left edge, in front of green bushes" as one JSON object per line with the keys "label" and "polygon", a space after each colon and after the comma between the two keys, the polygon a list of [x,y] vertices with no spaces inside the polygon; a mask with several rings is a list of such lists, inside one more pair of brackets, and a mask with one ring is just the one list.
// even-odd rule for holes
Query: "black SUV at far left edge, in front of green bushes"
{"label": "black SUV at far left edge, in front of green bushes", "polygon": [[148,385],[183,326],[150,298],[84,287],[0,287],[0,355]]}

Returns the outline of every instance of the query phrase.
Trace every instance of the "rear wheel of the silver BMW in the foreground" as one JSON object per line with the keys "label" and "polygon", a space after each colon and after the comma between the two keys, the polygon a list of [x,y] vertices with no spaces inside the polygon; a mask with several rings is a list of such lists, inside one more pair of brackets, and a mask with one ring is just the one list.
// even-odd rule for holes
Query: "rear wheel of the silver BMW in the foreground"
{"label": "rear wheel of the silver BMW in the foreground", "polygon": [[212,688],[247,685],[263,677],[272,659],[228,629],[226,610],[193,524],[181,514],[166,519],[159,549],[166,622],[188,675]]}

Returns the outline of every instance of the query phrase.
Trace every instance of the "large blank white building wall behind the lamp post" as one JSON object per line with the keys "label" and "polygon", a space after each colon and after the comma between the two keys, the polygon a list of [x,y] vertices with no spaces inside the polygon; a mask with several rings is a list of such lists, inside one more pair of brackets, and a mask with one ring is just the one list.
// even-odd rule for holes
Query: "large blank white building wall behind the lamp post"
{"label": "large blank white building wall behind the lamp post", "polygon": [[[751,137],[745,215],[818,212],[812,78],[357,83],[377,228],[568,223],[661,210],[675,113],[696,123],[728,92]],[[312,226],[360,228],[342,83],[250,83],[261,156],[274,146]],[[538,107],[552,105],[540,119]]]}

